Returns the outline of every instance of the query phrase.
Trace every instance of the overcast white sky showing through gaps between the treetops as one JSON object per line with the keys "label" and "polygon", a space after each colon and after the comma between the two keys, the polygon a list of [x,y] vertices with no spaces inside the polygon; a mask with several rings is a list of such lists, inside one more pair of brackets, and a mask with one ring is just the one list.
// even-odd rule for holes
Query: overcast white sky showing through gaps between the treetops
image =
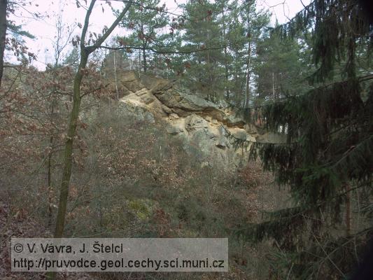
{"label": "overcast white sky showing through gaps between the treetops", "polygon": [[[161,0],[161,4],[166,3],[168,10],[172,13],[180,13],[180,10],[177,10],[177,3],[185,3],[185,1],[186,0]],[[84,3],[83,0],[80,0],[80,2]],[[310,0],[303,0],[305,5],[308,5],[309,2]],[[121,8],[123,6],[123,3],[118,1],[112,1],[111,3],[115,8]],[[272,23],[277,19],[280,24],[287,22],[289,18],[293,18],[293,16],[303,8],[300,0],[258,0],[257,3],[258,9],[265,8],[272,12]],[[104,7],[104,13],[102,12],[101,5]],[[38,69],[45,69],[45,64],[52,63],[53,61],[52,41],[55,40],[55,19],[59,6],[63,7],[62,20],[66,26],[73,26],[74,23],[76,24],[78,22],[83,25],[85,9],[77,8],[76,1],[74,0],[31,1],[31,6],[25,8],[31,13],[40,13],[42,15],[41,20],[34,20],[27,10],[23,8],[18,8],[17,18],[12,18],[12,20],[15,20],[16,24],[22,24],[24,30],[36,36],[34,40],[27,39],[27,46],[29,50],[34,52],[37,56],[37,61],[33,62],[33,64],[38,67]],[[111,8],[105,4],[105,1],[97,1],[90,18],[90,30],[101,33],[103,27],[105,25],[110,26],[113,20],[115,20],[115,18],[111,12]],[[120,34],[120,32],[123,31],[116,28],[113,31],[113,35]],[[80,34],[80,29],[78,27],[75,29],[75,34]],[[69,43],[66,50],[71,50],[71,43]],[[12,59],[11,56],[7,58]]]}

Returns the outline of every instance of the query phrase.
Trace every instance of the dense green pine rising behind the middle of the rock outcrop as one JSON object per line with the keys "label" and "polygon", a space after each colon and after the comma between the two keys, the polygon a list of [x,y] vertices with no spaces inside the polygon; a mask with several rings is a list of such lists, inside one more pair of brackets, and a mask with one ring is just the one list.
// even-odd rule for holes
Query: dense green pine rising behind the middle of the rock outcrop
{"label": "dense green pine rising behind the middle of the rock outcrop", "polygon": [[194,92],[206,94],[206,98],[217,101],[222,99],[224,68],[221,32],[218,25],[218,6],[209,1],[188,1],[184,6],[185,22],[183,48],[201,50],[185,57],[188,64],[185,76],[186,86]]}

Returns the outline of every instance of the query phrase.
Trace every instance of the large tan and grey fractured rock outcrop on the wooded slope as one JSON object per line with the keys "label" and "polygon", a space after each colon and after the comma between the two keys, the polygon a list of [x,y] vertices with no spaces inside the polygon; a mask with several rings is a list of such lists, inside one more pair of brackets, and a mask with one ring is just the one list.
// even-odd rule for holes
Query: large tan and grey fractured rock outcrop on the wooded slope
{"label": "large tan and grey fractured rock outcrop on the wooded slope", "polygon": [[178,137],[188,153],[200,158],[201,166],[238,166],[246,157],[232,148],[227,133],[255,141],[255,127],[223,106],[206,101],[176,86],[175,81],[122,73],[126,92],[122,110],[136,120],[159,123],[165,133]]}

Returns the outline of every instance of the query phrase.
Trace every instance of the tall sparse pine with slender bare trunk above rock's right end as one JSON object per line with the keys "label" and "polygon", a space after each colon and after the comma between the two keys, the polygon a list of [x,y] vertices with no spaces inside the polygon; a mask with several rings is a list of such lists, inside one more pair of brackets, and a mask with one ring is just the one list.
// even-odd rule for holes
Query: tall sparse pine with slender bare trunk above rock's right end
{"label": "tall sparse pine with slender bare trunk above rock's right end", "polygon": [[257,2],[234,2],[230,6],[231,22],[227,38],[230,45],[230,99],[237,109],[249,107],[256,92],[255,77],[258,64],[258,45],[266,38],[269,13],[257,10]]}

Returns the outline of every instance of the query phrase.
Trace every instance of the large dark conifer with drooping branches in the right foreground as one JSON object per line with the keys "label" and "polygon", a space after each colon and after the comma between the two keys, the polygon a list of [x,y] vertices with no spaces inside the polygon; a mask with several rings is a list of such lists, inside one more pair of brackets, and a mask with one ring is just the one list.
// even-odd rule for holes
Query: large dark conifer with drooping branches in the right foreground
{"label": "large dark conifer with drooping branches in the right foreground", "polygon": [[239,233],[275,239],[286,255],[276,270],[288,279],[342,279],[373,232],[372,225],[351,228],[353,191],[366,190],[366,213],[372,209],[373,76],[358,63],[370,57],[371,25],[356,0],[315,0],[276,31],[298,38],[310,30],[312,88],[264,106],[267,129],[285,129],[286,139],[251,146],[251,156],[290,188],[293,207]]}

